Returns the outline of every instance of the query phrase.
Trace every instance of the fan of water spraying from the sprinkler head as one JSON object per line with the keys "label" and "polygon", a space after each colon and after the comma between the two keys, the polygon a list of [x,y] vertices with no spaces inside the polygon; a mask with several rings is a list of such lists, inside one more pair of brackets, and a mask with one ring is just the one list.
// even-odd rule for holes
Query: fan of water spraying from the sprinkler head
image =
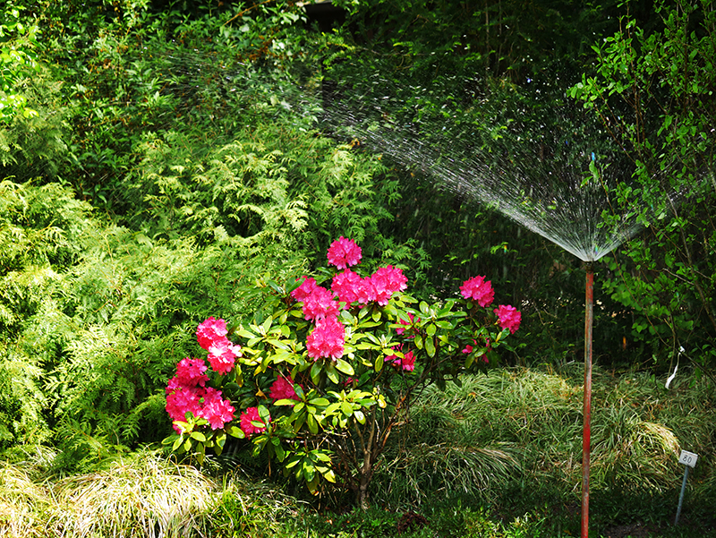
{"label": "fan of water spraying from the sprinkler head", "polygon": [[[605,148],[598,126],[589,127],[579,107],[554,108],[550,114],[561,116],[558,121],[524,121],[521,110],[486,114],[494,105],[482,100],[477,114],[496,123],[476,129],[474,122],[446,112],[447,106],[437,115],[422,115],[419,99],[406,113],[405,100],[395,97],[387,81],[368,87],[342,88],[324,98],[333,129],[440,187],[499,210],[580,260],[599,260],[650,220],[664,218],[682,198],[667,187],[668,175],[659,167],[652,176],[658,201],[644,191],[644,198],[631,196],[628,207],[619,203],[618,187],[631,181],[634,167],[618,150]],[[412,90],[435,99],[432,91]]]}

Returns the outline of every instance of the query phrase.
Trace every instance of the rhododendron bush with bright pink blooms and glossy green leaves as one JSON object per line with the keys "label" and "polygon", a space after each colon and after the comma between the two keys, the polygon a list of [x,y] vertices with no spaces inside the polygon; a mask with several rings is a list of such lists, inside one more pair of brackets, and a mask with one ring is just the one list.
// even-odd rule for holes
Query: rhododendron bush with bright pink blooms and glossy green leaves
{"label": "rhododendron bush with bright pink blooms and glossy green leaves", "polygon": [[428,383],[444,386],[497,361],[491,353],[520,324],[493,307],[484,277],[435,303],[405,293],[401,269],[362,276],[361,248],[341,237],[328,249],[330,276],[256,283],[262,305],[229,329],[209,317],[197,329],[203,358],[184,358],[166,387],[177,452],[203,461],[227,439],[266,452],[312,492],[326,482],[364,503],[388,436]]}

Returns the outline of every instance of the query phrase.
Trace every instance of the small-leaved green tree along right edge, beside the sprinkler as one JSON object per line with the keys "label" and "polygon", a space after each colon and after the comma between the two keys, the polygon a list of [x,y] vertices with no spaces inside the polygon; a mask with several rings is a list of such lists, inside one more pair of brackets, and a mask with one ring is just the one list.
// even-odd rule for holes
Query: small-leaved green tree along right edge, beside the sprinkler
{"label": "small-leaved green tree along right edge, beside the sprinkler", "polygon": [[[595,45],[598,67],[570,91],[608,126],[635,165],[636,182],[620,198],[648,200],[663,222],[608,260],[615,277],[604,288],[633,316],[631,340],[655,361],[674,363],[679,348],[695,365],[713,368],[714,281],[713,57],[711,2],[658,3],[661,29],[633,19]],[[663,178],[663,179],[661,179]],[[664,190],[675,190],[673,201]],[[683,203],[682,203],[683,202]]]}

